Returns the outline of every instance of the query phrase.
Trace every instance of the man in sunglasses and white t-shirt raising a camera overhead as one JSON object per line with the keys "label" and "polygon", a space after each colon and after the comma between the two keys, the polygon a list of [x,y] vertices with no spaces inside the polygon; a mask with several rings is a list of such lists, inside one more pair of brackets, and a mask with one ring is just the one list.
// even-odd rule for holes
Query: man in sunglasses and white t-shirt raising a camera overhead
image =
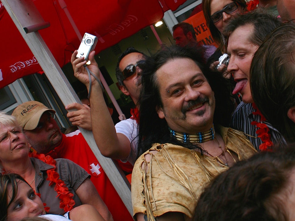
{"label": "man in sunglasses and white t-shirt raising a camera overhead", "polygon": [[[81,59],[76,59],[72,56],[72,64],[75,70],[76,65],[83,62]],[[93,58],[94,54],[89,56]],[[116,67],[116,77],[121,91],[132,98],[135,105],[137,105],[140,95],[140,66],[144,62],[144,54],[129,47],[122,55],[119,56],[119,61]],[[94,58],[93,58],[94,60]],[[91,65],[96,70],[97,63],[91,61]],[[92,66],[89,65],[89,69]],[[86,71],[86,70],[85,70]],[[86,85],[89,89],[89,81],[78,79]],[[96,144],[101,151],[101,154],[113,159],[119,159],[122,162],[129,161],[132,166],[135,163],[137,153],[137,127],[138,127],[138,110],[132,109],[132,116],[130,119],[120,121],[114,126],[112,118],[109,114],[107,106],[105,105],[102,90],[96,84],[96,80],[92,81],[92,90],[90,95],[91,104],[91,123],[92,132]],[[71,113],[68,117],[71,118]]]}

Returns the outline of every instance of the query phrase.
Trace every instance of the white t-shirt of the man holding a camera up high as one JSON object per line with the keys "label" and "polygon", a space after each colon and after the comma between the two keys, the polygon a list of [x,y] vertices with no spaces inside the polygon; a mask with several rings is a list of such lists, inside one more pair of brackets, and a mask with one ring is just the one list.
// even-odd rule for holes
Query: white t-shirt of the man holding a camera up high
{"label": "white t-shirt of the man holding a camera up high", "polygon": [[130,164],[134,165],[137,154],[138,144],[138,124],[134,119],[127,119],[120,121],[115,125],[116,132],[124,134],[131,144],[130,154],[127,159],[121,160],[123,163],[129,161]]}

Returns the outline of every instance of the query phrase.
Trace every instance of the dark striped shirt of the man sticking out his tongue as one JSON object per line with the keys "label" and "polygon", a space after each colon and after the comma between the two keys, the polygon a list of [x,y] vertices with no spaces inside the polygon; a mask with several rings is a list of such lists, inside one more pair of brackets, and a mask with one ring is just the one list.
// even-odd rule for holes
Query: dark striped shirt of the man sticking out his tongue
{"label": "dark striped shirt of the man sticking out his tongue", "polygon": [[[262,144],[262,140],[257,137],[256,134],[256,126],[251,125],[251,122],[256,121],[260,122],[260,116],[254,115],[252,112],[255,111],[252,104],[246,104],[244,102],[241,102],[238,106],[235,112],[232,115],[232,122],[230,127],[233,129],[236,129],[238,131],[242,131],[245,133],[247,138],[250,140],[250,142],[253,144],[255,149],[260,152],[259,145]],[[271,135],[271,141],[273,144],[285,144],[286,141],[281,135],[280,132],[276,128],[274,128],[268,121],[263,121],[262,123],[265,123],[269,128],[269,134]]]}

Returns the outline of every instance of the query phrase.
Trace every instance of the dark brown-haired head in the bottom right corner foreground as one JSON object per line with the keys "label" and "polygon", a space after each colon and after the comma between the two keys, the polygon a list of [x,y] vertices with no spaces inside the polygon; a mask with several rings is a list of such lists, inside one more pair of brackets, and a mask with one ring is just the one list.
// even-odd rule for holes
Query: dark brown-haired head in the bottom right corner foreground
{"label": "dark brown-haired head in the bottom right corner foreground", "polygon": [[261,152],[239,161],[214,178],[201,194],[193,220],[290,220],[295,145],[277,149],[280,151]]}

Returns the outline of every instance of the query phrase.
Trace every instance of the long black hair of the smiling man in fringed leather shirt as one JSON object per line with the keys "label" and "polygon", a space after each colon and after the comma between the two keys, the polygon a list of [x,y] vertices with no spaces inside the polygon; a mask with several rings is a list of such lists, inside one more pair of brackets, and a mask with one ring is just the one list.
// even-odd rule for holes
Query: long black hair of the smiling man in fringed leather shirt
{"label": "long black hair of the smiling man in fringed leather shirt", "polygon": [[[234,109],[231,94],[232,80],[224,79],[220,73],[212,72],[205,66],[203,48],[163,47],[162,50],[151,57],[146,57],[142,67],[142,89],[139,100],[140,124],[139,146],[137,158],[152,147],[154,143],[171,143],[190,149],[196,149],[194,144],[185,145],[172,138],[165,119],[158,116],[157,108],[162,107],[156,71],[165,63],[178,59],[189,58],[193,60],[207,78],[215,96],[214,124],[229,126]],[[181,75],[181,73],[179,73]]]}

